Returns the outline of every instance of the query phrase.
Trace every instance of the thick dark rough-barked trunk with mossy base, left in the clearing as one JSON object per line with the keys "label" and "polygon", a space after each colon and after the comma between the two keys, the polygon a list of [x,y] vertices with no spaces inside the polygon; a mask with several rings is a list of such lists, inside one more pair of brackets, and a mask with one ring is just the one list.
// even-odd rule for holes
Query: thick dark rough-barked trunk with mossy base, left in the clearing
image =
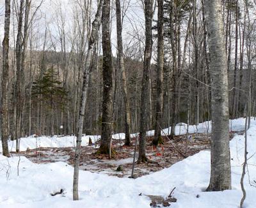
{"label": "thick dark rough-barked trunk with mossy base, left in the clearing", "polygon": [[111,157],[112,140],[112,52],[110,38],[110,0],[104,0],[102,7],[102,52],[103,52],[103,100],[102,129],[98,153]]}

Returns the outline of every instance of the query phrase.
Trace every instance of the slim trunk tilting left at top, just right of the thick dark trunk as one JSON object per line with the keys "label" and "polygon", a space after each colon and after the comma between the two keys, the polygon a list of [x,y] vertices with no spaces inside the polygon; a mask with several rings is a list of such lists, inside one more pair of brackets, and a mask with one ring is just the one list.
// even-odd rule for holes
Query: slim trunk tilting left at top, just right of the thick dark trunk
{"label": "slim trunk tilting left at top, just right of the thick dark trunk", "polygon": [[125,106],[125,145],[131,145],[131,113],[129,107],[129,99],[127,92],[127,81],[124,67],[124,49],[122,41],[122,17],[121,17],[121,6],[120,0],[116,0],[116,34],[117,34],[117,45],[118,45],[118,64],[122,73],[122,92],[124,97]]}

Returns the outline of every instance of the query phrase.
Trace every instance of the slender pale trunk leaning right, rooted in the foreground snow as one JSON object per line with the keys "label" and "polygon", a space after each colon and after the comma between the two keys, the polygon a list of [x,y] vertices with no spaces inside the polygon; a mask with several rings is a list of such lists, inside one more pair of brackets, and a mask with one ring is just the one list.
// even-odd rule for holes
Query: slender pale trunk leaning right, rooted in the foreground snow
{"label": "slender pale trunk leaning right, rooted in the foreground snow", "polygon": [[102,2],[103,0],[99,1],[97,13],[95,15],[95,20],[92,23],[92,31],[90,35],[90,41],[88,45],[88,51],[87,51],[86,62],[84,67],[83,92],[81,96],[81,103],[80,103],[80,110],[79,110],[79,123],[78,123],[78,132],[77,132],[77,141],[76,141],[75,164],[74,164],[73,200],[79,200],[79,196],[78,196],[79,161],[80,161],[80,155],[81,155],[84,111],[85,111],[85,104],[87,99],[88,78],[90,74],[90,66],[92,61],[92,51],[93,51],[93,45],[95,44],[97,30],[99,29]]}

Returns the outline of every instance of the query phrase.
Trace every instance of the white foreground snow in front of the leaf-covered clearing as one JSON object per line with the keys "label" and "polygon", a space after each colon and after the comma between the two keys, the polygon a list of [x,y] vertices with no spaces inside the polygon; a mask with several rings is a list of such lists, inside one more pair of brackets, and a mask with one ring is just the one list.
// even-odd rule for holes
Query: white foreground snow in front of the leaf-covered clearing
{"label": "white foreground snow in front of the leaf-covered clearing", "polygon": [[[232,121],[232,130],[243,130],[244,119]],[[202,127],[202,128],[201,128]],[[198,127],[203,131],[204,124]],[[193,128],[191,128],[193,129]],[[189,127],[190,131],[190,127]],[[242,196],[240,178],[244,157],[244,135],[230,141],[232,190],[205,192],[210,179],[210,152],[201,151],[159,172],[138,179],[118,178],[103,173],[80,171],[79,201],[72,201],[73,168],[66,163],[31,163],[20,157],[0,156],[0,207],[150,207],[150,199],[143,195],[168,196],[176,187],[177,203],[173,208],[234,208]],[[248,130],[248,173],[256,183],[256,121]],[[255,208],[256,188],[250,186],[248,173],[244,178],[246,208]],[[50,193],[65,189],[63,195]],[[199,195],[196,198],[196,195]]]}

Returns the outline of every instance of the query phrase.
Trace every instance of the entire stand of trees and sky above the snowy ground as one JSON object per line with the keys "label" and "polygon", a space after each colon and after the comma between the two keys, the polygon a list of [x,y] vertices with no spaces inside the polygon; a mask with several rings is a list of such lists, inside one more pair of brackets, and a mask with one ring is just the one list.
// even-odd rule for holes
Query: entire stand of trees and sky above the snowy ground
{"label": "entire stand of trees and sky above the snowy ground", "polygon": [[137,163],[154,163],[147,131],[154,129],[156,148],[175,140],[177,125],[189,134],[189,125],[212,121],[207,191],[231,189],[230,120],[246,118],[246,129],[256,114],[255,0],[5,0],[1,7],[4,156],[9,141],[19,153],[31,135],[76,136],[78,200],[84,134],[100,135],[93,154],[111,159],[113,134],[124,132],[124,146],[136,142],[136,152],[131,134],[140,132]]}

